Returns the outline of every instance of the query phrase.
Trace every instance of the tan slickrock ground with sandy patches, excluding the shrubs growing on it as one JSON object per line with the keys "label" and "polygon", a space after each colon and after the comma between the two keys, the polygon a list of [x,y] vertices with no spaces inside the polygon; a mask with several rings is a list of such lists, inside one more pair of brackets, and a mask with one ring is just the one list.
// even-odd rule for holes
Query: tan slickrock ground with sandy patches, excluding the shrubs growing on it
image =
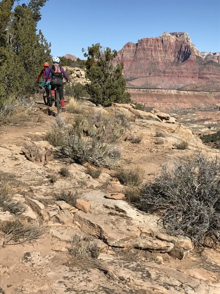
{"label": "tan slickrock ground with sandy patches, excluding the shrubs growing on it", "polygon": [[[82,102],[82,107],[84,111],[101,109],[87,101]],[[196,150],[219,156],[218,150],[204,146],[190,128],[162,111],[144,112],[133,104],[119,103],[103,111],[126,113],[130,119],[130,129],[119,139],[117,147],[124,167],[140,165],[144,169],[144,181],[153,179],[162,163],[172,164],[176,159],[192,156]],[[158,216],[137,210],[124,197],[106,197],[123,194],[124,186],[108,169],[103,168],[94,179],[88,175],[86,166],[59,156],[58,149],[45,141],[54,117],[42,113],[44,122],[36,122],[35,126],[1,127],[1,182],[8,183],[13,199],[25,205],[26,211],[19,218],[44,227],[44,234],[37,240],[0,248],[2,291],[6,294],[220,293],[220,253],[215,250],[199,253],[188,238],[170,236],[164,231],[157,223]],[[69,123],[74,119],[74,114],[62,115]],[[162,145],[155,144],[158,131],[166,134]],[[140,134],[140,144],[125,140]],[[179,140],[187,140],[189,147],[176,149]],[[25,158],[21,149],[30,142],[41,150],[51,149],[53,160],[39,164]],[[65,164],[68,177],[59,173]],[[49,180],[51,174],[56,175],[56,181]],[[77,190],[80,205],[57,199],[63,190]],[[14,214],[0,210],[3,223],[14,218]],[[0,234],[0,245],[4,238]],[[98,248],[97,256],[71,258],[68,249],[79,238],[89,238],[91,248]],[[83,248],[81,245],[80,249]]]}

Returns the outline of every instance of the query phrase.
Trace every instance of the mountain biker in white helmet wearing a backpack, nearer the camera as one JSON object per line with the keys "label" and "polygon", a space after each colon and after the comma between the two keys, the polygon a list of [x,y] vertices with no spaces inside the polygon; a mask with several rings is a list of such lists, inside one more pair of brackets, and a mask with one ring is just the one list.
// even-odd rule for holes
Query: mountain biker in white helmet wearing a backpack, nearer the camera
{"label": "mountain biker in white helmet wearing a backpack, nearer the camera", "polygon": [[[60,102],[62,107],[62,112],[65,112],[65,101],[64,101],[64,82],[63,77],[65,77],[66,82],[69,81],[68,76],[62,66],[59,65],[60,58],[54,57],[53,58],[53,65],[49,67],[48,71],[46,72],[46,81],[47,78],[51,75],[51,95],[52,101],[54,101],[55,91],[54,89],[57,87],[59,95],[60,95]],[[51,102],[51,101],[50,101]],[[50,104],[50,103],[49,103]]]}

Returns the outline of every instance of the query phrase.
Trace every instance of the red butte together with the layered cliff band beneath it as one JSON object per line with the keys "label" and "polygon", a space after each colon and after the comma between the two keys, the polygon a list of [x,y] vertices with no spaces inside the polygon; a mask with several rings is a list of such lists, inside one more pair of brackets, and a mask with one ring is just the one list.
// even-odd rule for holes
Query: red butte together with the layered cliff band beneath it
{"label": "red butte together with the layered cliff band beneath it", "polygon": [[207,107],[220,100],[220,53],[199,52],[185,32],[129,42],[118,51],[117,60],[124,63],[132,98],[149,106],[188,108],[202,101]]}

